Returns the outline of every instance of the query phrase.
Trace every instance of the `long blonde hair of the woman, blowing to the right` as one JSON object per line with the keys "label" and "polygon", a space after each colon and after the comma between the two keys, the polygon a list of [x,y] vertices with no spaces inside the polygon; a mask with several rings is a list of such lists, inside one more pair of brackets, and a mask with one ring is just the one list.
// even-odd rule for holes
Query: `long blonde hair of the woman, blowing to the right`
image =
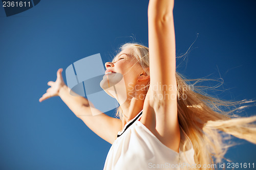
{"label": "long blonde hair of the woman, blowing to the right", "polygon": [[[145,69],[150,66],[148,48],[138,43],[125,43],[120,50],[132,48],[133,57]],[[223,134],[233,135],[256,144],[256,116],[240,117],[236,112],[248,107],[245,105],[254,101],[224,101],[210,96],[203,89],[212,87],[195,86],[199,82],[210,79],[189,80],[176,71],[177,81],[177,109],[179,124],[187,134],[195,150],[195,163],[210,165],[221,162],[230,143],[224,142]],[[195,83],[191,83],[195,82]],[[147,84],[149,86],[149,82]],[[193,89],[191,89],[191,86]],[[181,96],[186,96],[182,98]],[[237,107],[238,106],[238,107]],[[234,109],[231,109],[234,107]],[[225,111],[228,110],[228,111]],[[117,108],[116,116],[122,119],[122,110]],[[188,141],[183,142],[185,150]],[[196,168],[194,168],[196,169]],[[214,167],[200,167],[198,169],[215,169]]]}

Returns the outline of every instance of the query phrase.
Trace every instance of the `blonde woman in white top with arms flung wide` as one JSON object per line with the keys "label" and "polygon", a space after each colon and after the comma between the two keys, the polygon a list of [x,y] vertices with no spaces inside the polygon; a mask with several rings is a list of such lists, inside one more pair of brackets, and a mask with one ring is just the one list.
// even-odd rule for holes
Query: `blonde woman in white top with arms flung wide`
{"label": "blonde woman in white top with arms flung wide", "polygon": [[[91,130],[112,144],[104,169],[214,169],[207,165],[225,154],[217,130],[256,143],[255,126],[249,124],[256,116],[231,119],[228,113],[236,109],[220,109],[245,102],[207,96],[189,88],[189,82],[176,72],[173,8],[172,0],[150,0],[149,47],[124,44],[114,60],[105,63],[100,85],[119,102],[120,119],[100,112],[85,98],[70,95],[62,69],[39,99],[60,96]],[[110,90],[117,77],[125,82],[123,87],[116,84],[125,89],[118,98]]]}

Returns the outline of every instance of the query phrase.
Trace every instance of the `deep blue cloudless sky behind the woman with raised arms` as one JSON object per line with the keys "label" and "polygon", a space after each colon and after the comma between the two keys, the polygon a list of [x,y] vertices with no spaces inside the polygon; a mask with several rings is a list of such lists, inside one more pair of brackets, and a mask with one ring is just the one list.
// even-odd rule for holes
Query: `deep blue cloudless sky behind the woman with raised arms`
{"label": "deep blue cloudless sky behind the woman with raised arms", "polygon": [[[58,68],[120,44],[148,44],[148,1],[50,1],[6,17],[0,7],[0,168],[102,169],[111,144],[94,134],[60,98],[38,102]],[[224,80],[224,100],[255,99],[255,1],[176,1],[178,68],[188,78]],[[177,61],[180,64],[181,61]],[[65,71],[63,71],[65,78]],[[66,81],[66,79],[65,79]],[[210,82],[212,83],[212,82]],[[108,112],[114,115],[114,110]],[[255,115],[251,107],[242,115]],[[232,147],[232,162],[254,163],[256,145]]]}

